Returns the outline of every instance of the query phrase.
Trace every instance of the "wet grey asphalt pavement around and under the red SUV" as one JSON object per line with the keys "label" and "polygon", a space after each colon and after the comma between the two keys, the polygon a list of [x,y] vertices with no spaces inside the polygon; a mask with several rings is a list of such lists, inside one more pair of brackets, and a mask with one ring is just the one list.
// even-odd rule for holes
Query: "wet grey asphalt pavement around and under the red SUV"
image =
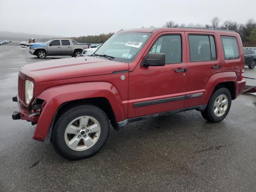
{"label": "wet grey asphalt pavement around and under the red SUV", "polygon": [[[111,130],[96,155],[69,161],[32,139],[35,126],[11,117],[18,69],[40,60],[28,48],[0,46],[1,192],[256,191],[256,94],[238,96],[216,124],[196,110],[130,123]],[[256,78],[256,69],[246,66],[244,76]]]}

